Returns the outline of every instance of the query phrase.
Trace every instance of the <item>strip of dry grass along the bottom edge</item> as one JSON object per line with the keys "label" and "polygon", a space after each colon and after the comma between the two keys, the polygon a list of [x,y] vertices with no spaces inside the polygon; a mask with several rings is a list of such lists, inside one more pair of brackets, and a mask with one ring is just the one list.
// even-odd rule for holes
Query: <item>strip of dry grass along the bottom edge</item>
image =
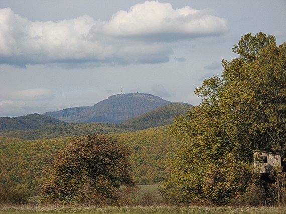
{"label": "strip of dry grass along the bottom edge", "polygon": [[48,207],[48,206],[0,206],[0,213],[286,213],[284,207],[169,207],[169,206],[154,206],[154,207]]}

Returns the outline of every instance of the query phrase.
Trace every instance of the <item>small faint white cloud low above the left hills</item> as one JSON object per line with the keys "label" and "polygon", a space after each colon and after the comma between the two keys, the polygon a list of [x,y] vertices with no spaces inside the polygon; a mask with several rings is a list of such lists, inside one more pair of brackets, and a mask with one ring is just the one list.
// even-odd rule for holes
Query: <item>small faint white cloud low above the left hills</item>
{"label": "small faint white cloud low above the left hills", "polygon": [[53,92],[46,88],[32,88],[11,92],[7,95],[12,100],[49,100]]}

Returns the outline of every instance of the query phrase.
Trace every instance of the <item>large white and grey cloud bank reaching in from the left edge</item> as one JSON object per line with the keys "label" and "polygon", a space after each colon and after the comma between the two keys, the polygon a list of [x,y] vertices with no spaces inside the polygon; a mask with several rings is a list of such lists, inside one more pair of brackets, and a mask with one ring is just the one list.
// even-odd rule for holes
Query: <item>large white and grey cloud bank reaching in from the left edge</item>
{"label": "large white and grey cloud bank reaching in from the left edge", "polygon": [[83,15],[33,22],[0,8],[0,63],[162,63],[172,53],[168,42],[219,36],[227,29],[226,20],[208,10],[173,9],[159,1],[135,4],[108,21]]}

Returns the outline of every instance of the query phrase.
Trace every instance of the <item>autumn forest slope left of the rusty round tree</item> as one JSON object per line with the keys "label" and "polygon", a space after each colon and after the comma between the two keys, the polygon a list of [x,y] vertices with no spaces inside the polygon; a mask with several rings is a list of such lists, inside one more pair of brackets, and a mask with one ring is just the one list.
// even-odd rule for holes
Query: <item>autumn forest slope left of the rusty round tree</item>
{"label": "autumn forest slope left of the rusty round tree", "polygon": [[0,185],[21,186],[29,195],[39,194],[56,153],[73,138],[21,140],[0,136]]}

